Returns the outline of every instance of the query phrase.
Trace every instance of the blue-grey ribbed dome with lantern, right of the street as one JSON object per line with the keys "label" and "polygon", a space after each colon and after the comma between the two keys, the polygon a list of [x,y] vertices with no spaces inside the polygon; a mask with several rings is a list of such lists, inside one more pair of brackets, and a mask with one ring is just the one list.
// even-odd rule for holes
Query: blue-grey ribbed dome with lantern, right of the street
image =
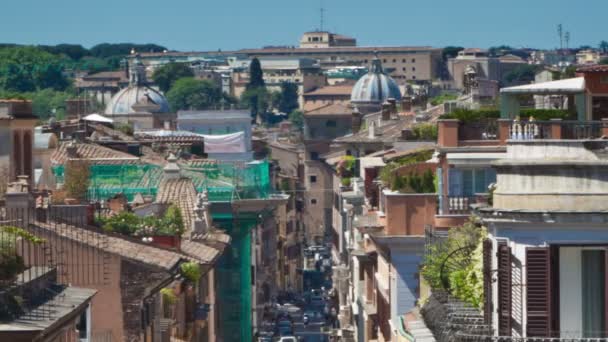
{"label": "blue-grey ribbed dome with lantern, right of the street", "polygon": [[363,75],[350,95],[352,104],[382,104],[386,99],[401,99],[401,91],[397,82],[382,70],[378,57],[372,61],[370,71]]}

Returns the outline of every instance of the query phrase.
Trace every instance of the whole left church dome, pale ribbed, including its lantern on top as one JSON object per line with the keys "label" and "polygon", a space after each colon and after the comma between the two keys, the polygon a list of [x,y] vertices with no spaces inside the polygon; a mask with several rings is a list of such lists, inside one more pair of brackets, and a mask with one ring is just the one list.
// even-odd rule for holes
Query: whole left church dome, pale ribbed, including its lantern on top
{"label": "whole left church dome, pale ribbed, including its lantern on top", "polygon": [[112,116],[142,111],[168,113],[169,103],[160,91],[147,85],[145,68],[136,59],[135,67],[129,70],[129,86],[112,97],[105,114]]}

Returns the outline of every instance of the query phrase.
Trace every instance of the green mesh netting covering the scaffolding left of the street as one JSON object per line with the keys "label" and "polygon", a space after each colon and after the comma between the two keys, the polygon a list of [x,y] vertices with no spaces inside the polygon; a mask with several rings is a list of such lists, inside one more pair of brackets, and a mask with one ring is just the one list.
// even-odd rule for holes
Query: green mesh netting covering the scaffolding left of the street
{"label": "green mesh netting covering the scaffolding left of the street", "polygon": [[[204,161],[180,165],[181,174],[192,180],[198,192],[207,191],[211,203],[242,199],[265,199],[271,195],[268,161]],[[57,184],[64,182],[64,167],[53,169]],[[156,196],[163,170],[155,165],[91,165],[89,200],[107,200],[124,194],[132,201],[138,193]],[[258,213],[212,212],[214,224],[231,236],[217,264],[217,307],[224,341],[252,340],[252,229]]]}

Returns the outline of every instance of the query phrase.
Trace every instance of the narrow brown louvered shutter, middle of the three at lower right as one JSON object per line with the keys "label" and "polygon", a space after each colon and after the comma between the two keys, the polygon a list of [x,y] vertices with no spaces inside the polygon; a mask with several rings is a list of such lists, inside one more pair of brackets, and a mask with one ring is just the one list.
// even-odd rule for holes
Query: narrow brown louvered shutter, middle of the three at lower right
{"label": "narrow brown louvered shutter, middle of the three at lower right", "polygon": [[511,336],[511,248],[498,246],[498,335]]}

